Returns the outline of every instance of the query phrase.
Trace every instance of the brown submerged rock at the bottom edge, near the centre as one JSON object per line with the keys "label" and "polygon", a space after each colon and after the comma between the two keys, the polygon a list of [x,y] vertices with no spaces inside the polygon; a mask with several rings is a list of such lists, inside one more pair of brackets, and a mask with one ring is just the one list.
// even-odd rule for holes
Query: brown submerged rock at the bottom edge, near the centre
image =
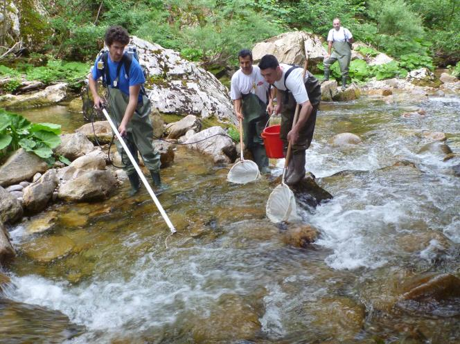
{"label": "brown submerged rock at the bottom edge, near the centre", "polygon": [[255,338],[260,332],[258,318],[254,307],[240,296],[224,294],[211,305],[209,315],[196,314],[191,319],[193,340],[195,343],[233,343]]}

